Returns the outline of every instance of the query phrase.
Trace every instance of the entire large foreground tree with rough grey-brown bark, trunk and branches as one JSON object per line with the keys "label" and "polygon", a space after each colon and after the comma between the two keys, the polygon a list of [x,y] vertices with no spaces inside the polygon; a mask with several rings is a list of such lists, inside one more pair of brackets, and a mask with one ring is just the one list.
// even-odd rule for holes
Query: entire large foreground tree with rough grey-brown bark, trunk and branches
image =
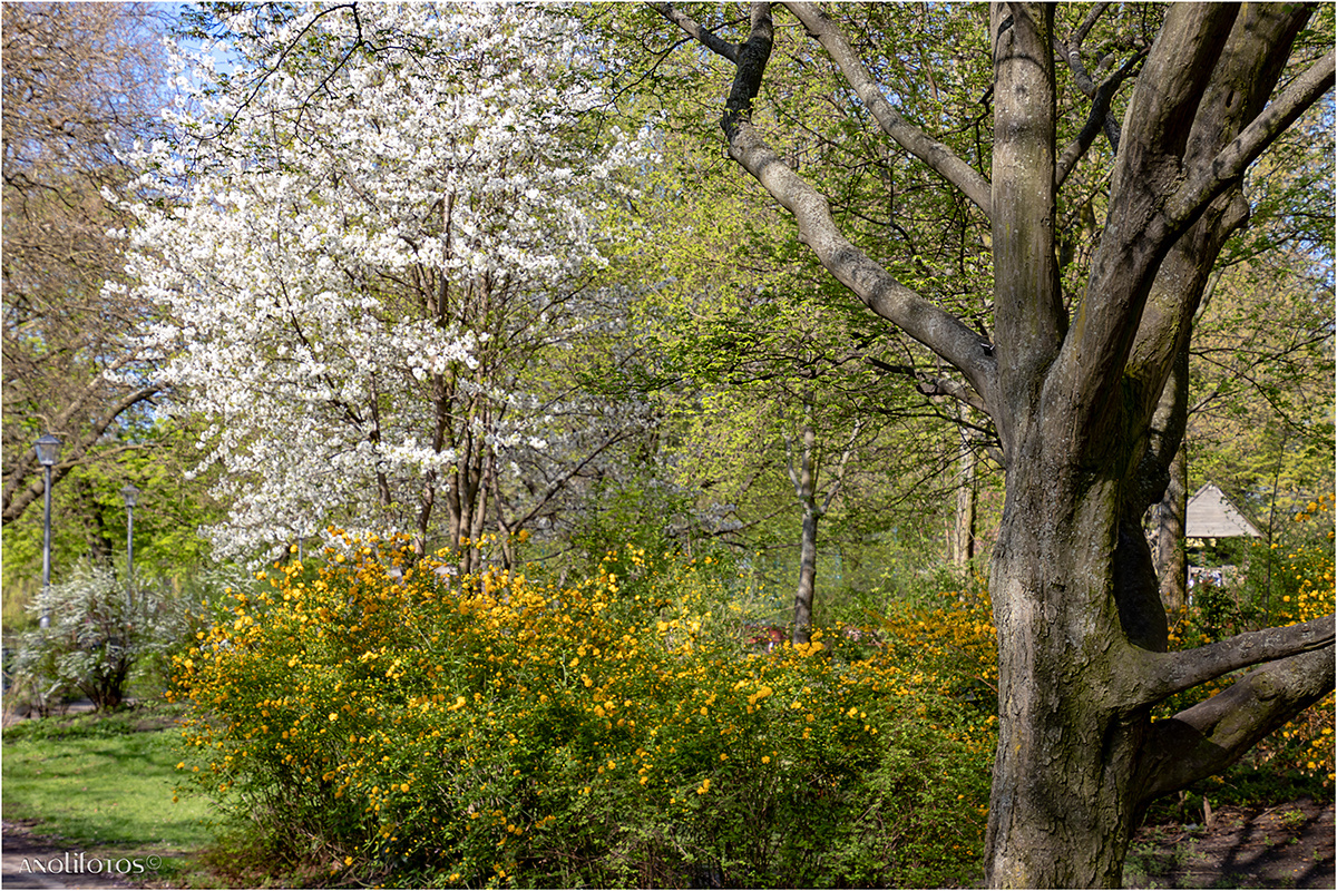
{"label": "entire large foreground tree with rough grey-brown bark, trunk and branches", "polygon": [[[1000,681],[989,884],[1120,884],[1150,800],[1219,772],[1333,689],[1330,616],[1167,653],[1140,526],[1183,438],[1167,381],[1217,254],[1245,222],[1242,176],[1333,84],[1329,52],[1278,88],[1312,8],[1171,5],[1122,128],[1108,98],[1126,69],[1083,91],[1094,127],[1060,154],[1055,8],[995,4],[985,179],[896,112],[886,98],[894,88],[873,81],[829,16],[785,4],[882,132],[991,219],[989,341],[845,238],[826,199],[753,126],[774,40],[771,4],[750,7],[739,43],[671,4],[652,5],[737,65],[722,120],[734,160],[793,212],[834,278],[960,371],[997,429],[1007,501],[989,581]],[[1091,274],[1070,311],[1055,260],[1056,190],[1100,131],[1118,155]],[[1250,667],[1225,692],[1151,723],[1167,696]]]}

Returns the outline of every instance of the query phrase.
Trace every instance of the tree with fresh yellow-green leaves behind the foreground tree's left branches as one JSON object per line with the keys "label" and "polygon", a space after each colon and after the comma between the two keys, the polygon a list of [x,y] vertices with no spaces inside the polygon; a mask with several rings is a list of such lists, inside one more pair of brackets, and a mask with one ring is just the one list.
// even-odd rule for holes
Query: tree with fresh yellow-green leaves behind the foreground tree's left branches
{"label": "tree with fresh yellow-green leaves behind the foreground tree's left branches", "polygon": [[[616,13],[596,9],[592,17],[619,28]],[[638,39],[634,29],[626,28],[623,39]],[[959,460],[973,466],[973,449],[960,453],[960,437],[947,434],[965,418],[956,406],[940,405],[945,382],[936,357],[872,323],[802,250],[792,220],[751,210],[755,187],[737,182],[727,160],[703,148],[709,87],[698,83],[699,72],[668,59],[648,76],[673,88],[635,98],[671,106],[656,130],[662,163],[646,172],[635,202],[646,236],[634,254],[660,277],[640,303],[636,327],[647,351],[667,357],[663,374],[674,386],[660,398],[678,394],[670,414],[686,423],[675,458],[679,480],[719,514],[729,541],[775,561],[794,552],[794,633],[801,637],[812,612],[817,530],[828,512],[836,510],[828,528],[842,533],[821,546],[834,557],[838,545],[842,560],[832,560],[833,569],[844,569],[844,557],[857,564],[884,552],[894,529],[943,530],[949,524],[943,505],[959,484],[944,469]],[[838,81],[801,64],[777,80],[766,107],[771,128],[801,116],[805,103],[821,110],[825,98],[841,95]],[[845,219],[862,240],[882,236],[886,210],[904,211],[890,220],[913,242],[904,260],[916,281],[933,287],[948,281],[940,267],[961,264],[977,281],[977,251],[963,250],[971,227],[961,208],[943,200],[940,190],[924,188],[904,159],[868,143],[838,115],[817,114],[804,120],[802,136],[787,151],[809,175],[838,186]],[[941,228],[947,236],[931,235]],[[951,287],[963,282],[972,275]],[[977,293],[947,299],[968,305]],[[937,423],[917,423],[924,419]],[[987,426],[980,433],[987,437]],[[979,448],[975,437],[965,443]],[[870,497],[841,496],[849,486]],[[963,516],[972,492],[967,478]],[[940,552],[941,540],[919,556],[931,562]]]}

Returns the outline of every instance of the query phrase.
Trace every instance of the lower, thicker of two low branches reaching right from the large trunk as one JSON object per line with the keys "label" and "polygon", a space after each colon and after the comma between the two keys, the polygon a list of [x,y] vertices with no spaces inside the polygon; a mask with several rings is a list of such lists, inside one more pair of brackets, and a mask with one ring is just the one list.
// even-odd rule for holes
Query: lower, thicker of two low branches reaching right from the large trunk
{"label": "lower, thicker of two low branches reaching right from the large trunk", "polygon": [[1140,806],[1219,773],[1332,692],[1333,657],[1329,643],[1271,663],[1173,719],[1152,724],[1138,771]]}

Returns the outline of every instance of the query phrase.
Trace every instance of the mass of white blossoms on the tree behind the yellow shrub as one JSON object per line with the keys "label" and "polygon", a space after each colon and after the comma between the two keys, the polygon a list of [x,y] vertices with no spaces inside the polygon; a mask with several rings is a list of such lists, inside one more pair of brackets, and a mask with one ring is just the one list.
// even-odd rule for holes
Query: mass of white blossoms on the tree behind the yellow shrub
{"label": "mass of white blossoms on the tree behind the yellow shrub", "polygon": [[135,158],[159,200],[131,207],[128,271],[174,410],[211,422],[217,552],[402,528],[480,448],[517,473],[639,422],[548,358],[620,323],[591,283],[599,208],[640,151],[592,126],[576,27],[519,5],[265,15],[226,21],[237,69],[202,53],[179,138]]}

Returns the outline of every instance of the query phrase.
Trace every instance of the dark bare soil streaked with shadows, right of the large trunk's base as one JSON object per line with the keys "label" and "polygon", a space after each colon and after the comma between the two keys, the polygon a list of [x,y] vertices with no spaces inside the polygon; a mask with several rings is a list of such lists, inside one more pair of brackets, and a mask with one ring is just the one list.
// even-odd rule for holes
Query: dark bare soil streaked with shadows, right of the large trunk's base
{"label": "dark bare soil streaked with shadows, right of the large trunk's base", "polygon": [[1130,888],[1333,888],[1333,803],[1223,807],[1210,826],[1148,826],[1124,864]]}

